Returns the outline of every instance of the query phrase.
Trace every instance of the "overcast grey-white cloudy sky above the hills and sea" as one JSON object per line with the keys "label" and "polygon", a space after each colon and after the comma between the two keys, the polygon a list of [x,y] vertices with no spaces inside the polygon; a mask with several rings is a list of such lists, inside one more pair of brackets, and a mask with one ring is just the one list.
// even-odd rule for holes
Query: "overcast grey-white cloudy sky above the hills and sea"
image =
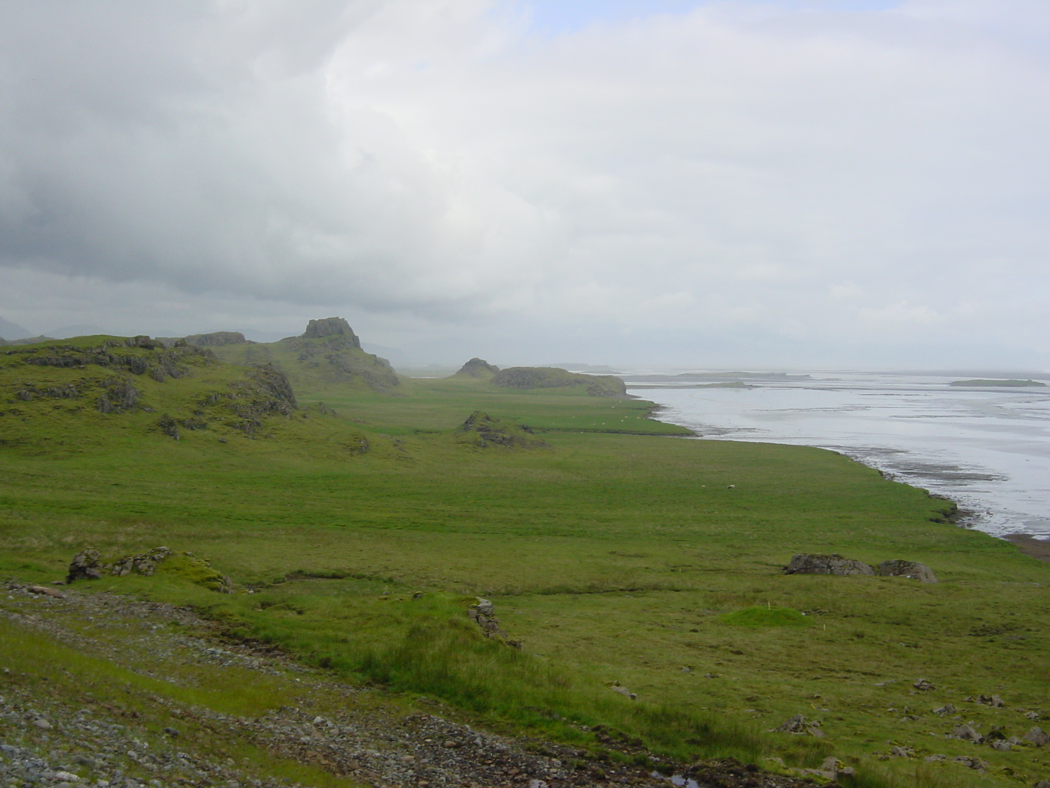
{"label": "overcast grey-white cloudy sky above the hills and sea", "polygon": [[5,0],[0,316],[1050,368],[1045,0]]}

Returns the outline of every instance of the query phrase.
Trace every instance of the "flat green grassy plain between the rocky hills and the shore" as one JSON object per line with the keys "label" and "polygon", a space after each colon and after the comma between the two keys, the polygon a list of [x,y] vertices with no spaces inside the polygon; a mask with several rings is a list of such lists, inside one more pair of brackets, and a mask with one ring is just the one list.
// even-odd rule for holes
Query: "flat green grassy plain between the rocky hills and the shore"
{"label": "flat green grassy plain between the rocky hills and the shore", "polygon": [[[158,387],[175,392],[197,377]],[[638,400],[462,380],[403,388],[396,398],[317,392],[339,416],[271,419],[271,438],[219,444],[200,432],[175,442],[144,433],[139,414],[106,416],[122,424],[110,430],[92,415],[76,452],[3,450],[0,571],[50,579],[88,544],[167,543],[259,589],[178,592],[245,634],[558,735],[580,733],[526,707],[611,722],[679,755],[808,752],[812,763],[824,747],[868,771],[914,772],[868,758],[894,741],[992,765],[983,781],[954,764],[922,767],[952,785],[1050,771],[1042,750],[941,738],[969,720],[1023,733],[1031,723],[1021,712],[1050,705],[1040,660],[1050,567],[931,521],[942,501],[819,450],[589,432],[665,430]],[[443,431],[475,408],[548,430],[551,449],[458,445]],[[52,437],[68,426],[40,419]],[[348,431],[372,450],[357,456],[330,439]],[[792,553],[808,551],[920,560],[942,582],[780,574]],[[266,587],[297,571],[336,577]],[[428,594],[413,600],[416,589]],[[464,620],[468,594],[494,598],[524,655],[443,623]],[[805,610],[816,624],[718,619],[755,604]],[[911,693],[920,677],[938,689]],[[613,681],[639,702],[609,692]],[[963,701],[992,692],[1008,707]],[[962,720],[930,713],[948,701]],[[761,732],[793,713],[823,720],[825,744]],[[712,719],[721,733],[684,732]]]}

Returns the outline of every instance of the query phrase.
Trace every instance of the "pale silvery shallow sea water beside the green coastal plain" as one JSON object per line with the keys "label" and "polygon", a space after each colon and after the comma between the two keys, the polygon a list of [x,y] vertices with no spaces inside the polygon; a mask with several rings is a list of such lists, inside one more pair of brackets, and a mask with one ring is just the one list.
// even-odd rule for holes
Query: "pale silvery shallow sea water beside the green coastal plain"
{"label": "pale silvery shallow sea water beside the green coastal plain", "polygon": [[[1050,537],[1050,388],[949,387],[959,376],[807,374],[751,379],[752,389],[663,388],[668,377],[642,372],[625,379],[630,393],[664,406],[660,419],[701,438],[832,449],[951,498],[972,513],[973,527]],[[662,388],[648,388],[654,383]]]}

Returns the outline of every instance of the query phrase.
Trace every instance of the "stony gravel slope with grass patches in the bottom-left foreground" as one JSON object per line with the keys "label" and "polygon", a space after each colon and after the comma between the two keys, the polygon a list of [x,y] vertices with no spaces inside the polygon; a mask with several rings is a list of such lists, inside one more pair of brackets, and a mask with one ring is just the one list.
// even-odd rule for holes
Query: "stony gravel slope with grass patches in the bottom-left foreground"
{"label": "stony gravel slope with grass patches in the bottom-left foreground", "polygon": [[[0,602],[7,620],[151,682],[121,684],[135,705],[113,700],[111,687],[90,687],[97,697],[68,670],[52,670],[48,678],[46,671],[0,667],[0,788],[672,785],[643,767],[475,729],[448,719],[457,716],[450,709],[443,717],[408,713],[377,690],[333,681],[278,651],[223,641],[213,623],[185,608],[74,588],[43,593],[17,582]],[[256,676],[295,701],[257,716],[224,713],[213,707],[220,704],[187,703],[185,691],[180,694],[196,689],[194,676],[219,684],[228,679],[230,686]],[[602,739],[616,745],[615,737]],[[288,764],[313,771],[296,774],[293,768],[289,776],[282,766]],[[733,762],[695,766],[689,773],[712,788],[806,784]]]}

